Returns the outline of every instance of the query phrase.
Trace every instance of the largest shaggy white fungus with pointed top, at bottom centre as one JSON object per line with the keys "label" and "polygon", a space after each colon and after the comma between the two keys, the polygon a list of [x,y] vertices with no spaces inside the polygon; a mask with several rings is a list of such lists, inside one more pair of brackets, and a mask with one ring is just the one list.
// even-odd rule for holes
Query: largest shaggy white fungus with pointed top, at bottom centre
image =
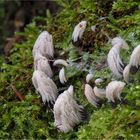
{"label": "largest shaggy white fungus with pointed top, at bottom centre", "polygon": [[73,98],[73,86],[70,86],[58,96],[54,104],[55,126],[65,133],[73,130],[73,127],[83,120],[82,111],[83,107]]}

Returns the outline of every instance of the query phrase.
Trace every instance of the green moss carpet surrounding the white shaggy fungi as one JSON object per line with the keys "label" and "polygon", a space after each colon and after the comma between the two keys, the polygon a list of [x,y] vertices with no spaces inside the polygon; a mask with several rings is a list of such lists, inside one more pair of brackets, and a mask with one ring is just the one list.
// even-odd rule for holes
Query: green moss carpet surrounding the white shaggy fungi
{"label": "green moss carpet surrounding the white shaggy fungi", "polygon": [[[126,62],[133,48],[140,43],[139,1],[117,0],[113,4],[106,2],[105,5],[102,1],[97,3],[93,0],[57,2],[61,6],[58,15],[52,17],[47,11],[47,18],[35,17],[24,32],[17,34],[25,40],[14,44],[10,57],[0,58],[0,139],[139,139],[139,73],[132,77],[134,83],[125,87],[125,100],[115,107],[105,101],[100,108],[94,108],[83,94],[85,76],[89,70],[93,70],[94,78],[109,80],[111,77],[106,66],[97,69],[98,65],[104,66],[106,55],[111,48],[105,39],[100,38],[102,31],[110,37],[122,36],[128,42],[130,50],[122,55]],[[107,20],[101,20],[104,16]],[[81,51],[71,44],[73,28],[81,20],[88,22],[87,30],[95,24],[99,24],[102,29],[95,35],[92,52]],[[45,24],[37,26],[38,21]],[[68,85],[74,85],[75,98],[84,105],[90,116],[67,134],[56,130],[52,112],[44,108],[31,82],[32,48],[37,36],[44,29],[53,35],[57,57],[71,62],[71,66],[66,69]],[[57,71],[54,79],[58,83]],[[19,101],[12,89],[13,85],[25,96],[24,101]],[[62,88],[67,87],[60,87],[59,90]]]}

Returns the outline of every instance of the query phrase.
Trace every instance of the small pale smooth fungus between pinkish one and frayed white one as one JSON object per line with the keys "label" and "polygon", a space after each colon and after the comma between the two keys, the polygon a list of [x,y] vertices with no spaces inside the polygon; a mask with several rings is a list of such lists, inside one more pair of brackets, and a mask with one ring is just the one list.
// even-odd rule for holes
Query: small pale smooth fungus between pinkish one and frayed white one
{"label": "small pale smooth fungus between pinkish one and frayed white one", "polygon": [[106,97],[106,90],[105,89],[100,89],[100,88],[95,86],[93,88],[93,91],[98,98],[102,99],[102,98]]}

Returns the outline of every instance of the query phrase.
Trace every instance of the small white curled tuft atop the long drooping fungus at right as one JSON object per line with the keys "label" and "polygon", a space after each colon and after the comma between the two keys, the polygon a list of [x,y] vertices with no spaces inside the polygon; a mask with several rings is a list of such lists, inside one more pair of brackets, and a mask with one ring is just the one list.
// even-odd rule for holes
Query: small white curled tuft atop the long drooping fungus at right
{"label": "small white curled tuft atop the long drooping fungus at right", "polygon": [[113,38],[112,39],[112,46],[113,47],[117,47],[117,48],[123,48],[123,49],[126,49],[126,50],[129,49],[128,44],[121,37],[115,37],[115,38]]}

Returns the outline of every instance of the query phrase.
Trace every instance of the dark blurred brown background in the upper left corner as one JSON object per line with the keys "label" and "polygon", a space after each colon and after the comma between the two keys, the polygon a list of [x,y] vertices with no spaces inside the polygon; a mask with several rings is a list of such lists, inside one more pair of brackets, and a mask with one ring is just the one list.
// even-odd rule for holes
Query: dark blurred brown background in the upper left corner
{"label": "dark blurred brown background in the upper left corner", "polygon": [[1,0],[0,54],[3,53],[4,47],[7,47],[7,43],[13,39],[15,32],[23,31],[33,18],[45,17],[47,10],[56,15],[59,6],[54,0]]}

